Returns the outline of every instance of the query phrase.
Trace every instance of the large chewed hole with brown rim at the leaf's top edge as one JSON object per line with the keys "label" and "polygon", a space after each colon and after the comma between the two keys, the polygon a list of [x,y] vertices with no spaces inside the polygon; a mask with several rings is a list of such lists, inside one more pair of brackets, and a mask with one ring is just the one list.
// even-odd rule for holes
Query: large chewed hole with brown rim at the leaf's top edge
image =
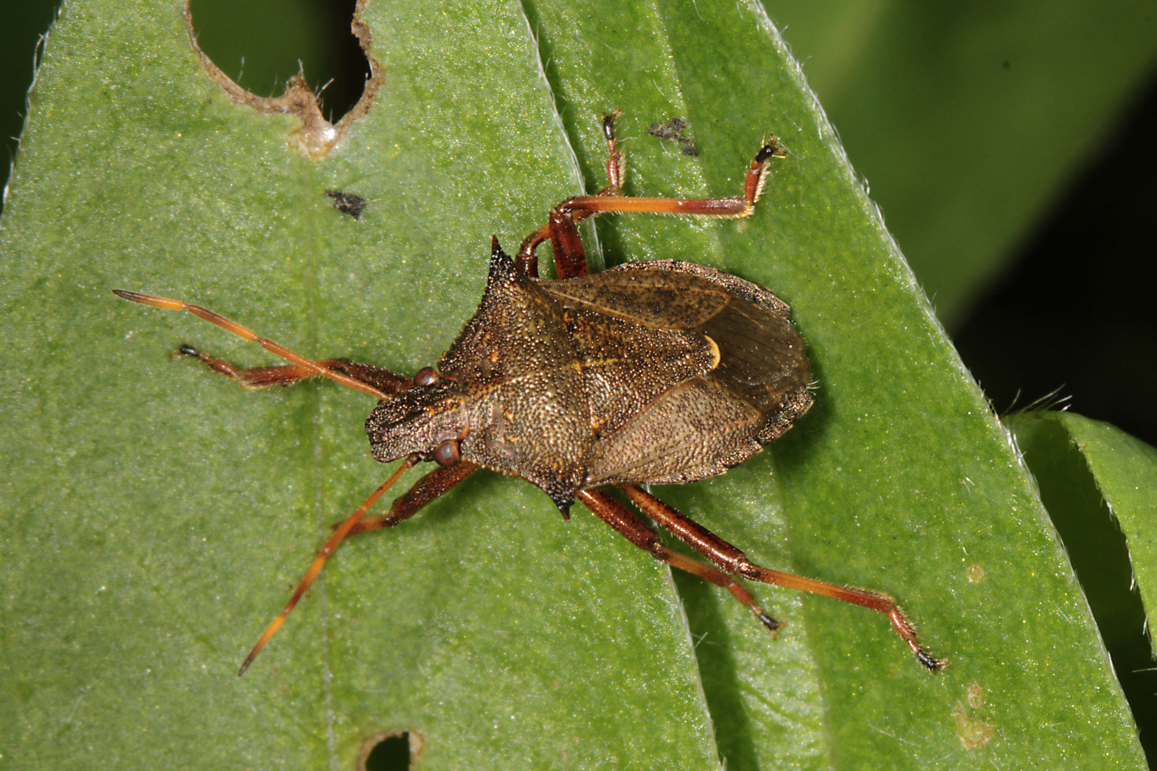
{"label": "large chewed hole with brown rim at the leaf's top edge", "polygon": [[337,123],[370,76],[349,28],[356,0],[191,0],[197,43],[221,72],[257,96],[279,96],[299,72]]}

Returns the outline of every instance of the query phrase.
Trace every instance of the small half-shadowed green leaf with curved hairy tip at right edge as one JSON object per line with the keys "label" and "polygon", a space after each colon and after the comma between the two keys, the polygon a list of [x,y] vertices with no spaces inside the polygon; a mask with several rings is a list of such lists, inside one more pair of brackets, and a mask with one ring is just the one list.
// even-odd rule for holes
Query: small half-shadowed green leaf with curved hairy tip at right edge
{"label": "small half-shadowed green leaf with curved hairy tip at right edge", "polygon": [[1157,599],[1157,450],[1071,412],[1008,418],[1040,485],[1142,736],[1157,728],[1148,614]]}

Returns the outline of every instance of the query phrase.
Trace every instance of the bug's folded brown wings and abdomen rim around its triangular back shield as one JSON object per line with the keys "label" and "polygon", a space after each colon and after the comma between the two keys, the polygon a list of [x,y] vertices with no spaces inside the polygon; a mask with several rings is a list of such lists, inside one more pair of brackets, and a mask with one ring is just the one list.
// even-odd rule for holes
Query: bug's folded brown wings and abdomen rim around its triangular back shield
{"label": "bug's folded brown wings and abdomen rim around its triangular back shield", "polygon": [[[680,483],[722,473],[787,431],[811,406],[810,367],[788,307],[766,289],[675,260],[631,263],[596,276],[544,282],[570,313],[627,323],[640,348],[668,337],[701,340],[707,369],[661,386],[600,433],[584,487]],[[592,390],[596,384],[591,384]],[[592,397],[594,398],[594,397]],[[614,403],[614,396],[609,399]]]}

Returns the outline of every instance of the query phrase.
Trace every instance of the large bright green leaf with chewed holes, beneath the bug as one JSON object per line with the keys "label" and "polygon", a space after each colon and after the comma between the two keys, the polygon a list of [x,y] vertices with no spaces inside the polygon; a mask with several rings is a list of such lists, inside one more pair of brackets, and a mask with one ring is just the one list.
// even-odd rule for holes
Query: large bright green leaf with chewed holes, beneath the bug
{"label": "large bright green leaf with chewed holes, beneath the bug", "polygon": [[[1007,432],[758,5],[373,3],[364,21],[384,82],[316,160],[295,117],[230,102],[172,3],[78,0],[53,31],[0,220],[5,759],[352,768],[404,729],[425,769],[1143,768]],[[344,544],[238,681],[327,524],[388,472],[371,404],[171,361],[183,342],[271,358],[110,289],[412,373],[473,311],[492,234],[513,245],[603,184],[612,108],[633,194],[734,194],[766,132],[790,152],[750,220],[598,225],[606,263],[731,271],[810,343],[798,427],[661,495],[768,567],[896,594],[952,666],[924,671],[871,611],[754,587],[787,623],[769,639],[581,507],[562,522],[480,473]],[[646,135],[672,116],[697,157]],[[361,220],[326,189],[366,198]]]}

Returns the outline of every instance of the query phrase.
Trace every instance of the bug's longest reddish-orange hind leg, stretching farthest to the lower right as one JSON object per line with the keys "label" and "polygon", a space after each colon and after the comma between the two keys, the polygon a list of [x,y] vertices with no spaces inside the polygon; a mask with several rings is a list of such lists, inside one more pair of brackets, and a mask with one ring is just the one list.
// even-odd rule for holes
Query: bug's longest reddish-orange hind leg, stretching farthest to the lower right
{"label": "bug's longest reddish-orange hind leg, stretching farthest to the lower right", "polygon": [[920,663],[933,671],[948,666],[948,661],[936,659],[920,645],[920,641],[916,639],[915,627],[891,596],[882,592],[835,586],[834,583],[825,583],[824,581],[760,567],[749,560],[747,556],[740,550],[650,493],[634,485],[622,485],[622,491],[627,493],[631,502],[638,506],[640,511],[728,573],[740,575],[752,581],[762,581],[764,583],[783,586],[789,589],[821,594],[826,597],[834,597],[835,600],[877,610],[887,616],[889,621],[892,622],[892,627],[908,644],[912,652],[916,654]]}

